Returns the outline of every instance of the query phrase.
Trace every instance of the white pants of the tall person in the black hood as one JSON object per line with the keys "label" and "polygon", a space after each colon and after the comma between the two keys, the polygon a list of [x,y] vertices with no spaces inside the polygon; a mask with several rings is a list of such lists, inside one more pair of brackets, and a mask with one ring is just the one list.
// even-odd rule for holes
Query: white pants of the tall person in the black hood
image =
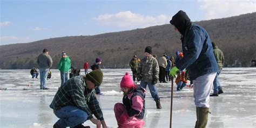
{"label": "white pants of the tall person in the black hood", "polygon": [[210,92],[217,72],[208,73],[193,80],[196,107],[210,107]]}

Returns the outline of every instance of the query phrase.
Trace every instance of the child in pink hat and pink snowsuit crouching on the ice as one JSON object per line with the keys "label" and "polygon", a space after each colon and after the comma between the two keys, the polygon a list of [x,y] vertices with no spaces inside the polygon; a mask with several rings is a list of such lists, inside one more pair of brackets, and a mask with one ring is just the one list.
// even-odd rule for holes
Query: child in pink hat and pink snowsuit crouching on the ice
{"label": "child in pink hat and pink snowsuit crouching on the ice", "polygon": [[125,73],[120,83],[124,92],[123,104],[114,105],[114,114],[118,127],[140,128],[145,124],[143,117],[145,113],[145,89],[133,83],[128,72]]}

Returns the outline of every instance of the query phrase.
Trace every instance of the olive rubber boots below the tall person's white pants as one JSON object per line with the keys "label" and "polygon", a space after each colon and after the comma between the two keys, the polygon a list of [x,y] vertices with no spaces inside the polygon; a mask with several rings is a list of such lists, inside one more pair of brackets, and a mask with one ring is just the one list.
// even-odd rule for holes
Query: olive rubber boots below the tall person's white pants
{"label": "olive rubber boots below the tall person's white pants", "polygon": [[205,128],[207,125],[207,121],[208,121],[208,113],[209,112],[209,108],[208,107],[198,107],[198,120],[197,120],[197,124],[196,124],[196,128]]}

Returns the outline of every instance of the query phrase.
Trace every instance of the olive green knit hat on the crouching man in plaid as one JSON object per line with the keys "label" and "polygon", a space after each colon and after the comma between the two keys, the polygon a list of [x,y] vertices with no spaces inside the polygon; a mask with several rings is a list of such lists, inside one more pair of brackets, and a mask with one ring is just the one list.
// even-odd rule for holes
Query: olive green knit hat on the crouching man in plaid
{"label": "olive green knit hat on the crouching man in plaid", "polygon": [[102,80],[103,80],[103,73],[102,73],[102,70],[97,69],[97,70],[94,70],[94,71],[88,73],[85,77],[88,80],[90,80],[92,83],[94,83],[95,86],[100,86],[100,84],[102,84]]}

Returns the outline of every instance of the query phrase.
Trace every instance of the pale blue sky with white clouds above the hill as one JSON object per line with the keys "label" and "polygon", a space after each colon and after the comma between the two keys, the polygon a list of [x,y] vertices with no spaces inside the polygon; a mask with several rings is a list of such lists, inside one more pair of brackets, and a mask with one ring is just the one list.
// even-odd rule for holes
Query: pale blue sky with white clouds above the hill
{"label": "pale blue sky with white clouds above the hill", "polygon": [[0,1],[0,45],[163,25],[179,10],[185,11],[191,21],[256,11],[255,0]]}

